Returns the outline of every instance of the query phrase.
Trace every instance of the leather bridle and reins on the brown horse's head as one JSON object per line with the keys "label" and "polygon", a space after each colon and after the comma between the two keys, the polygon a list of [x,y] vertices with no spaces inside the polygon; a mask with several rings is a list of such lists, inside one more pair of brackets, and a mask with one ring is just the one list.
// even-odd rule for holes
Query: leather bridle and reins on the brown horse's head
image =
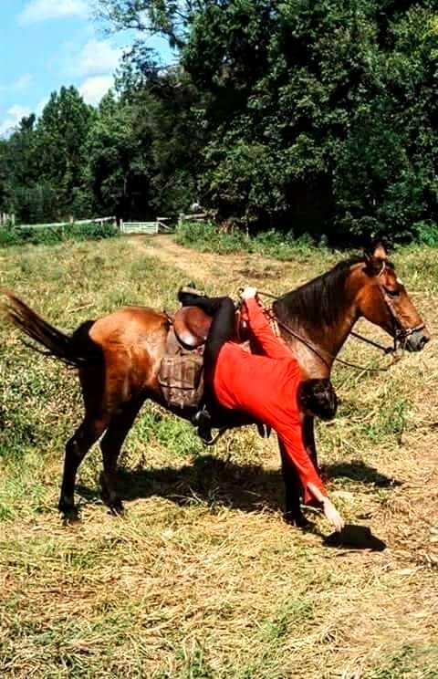
{"label": "leather bridle and reins on the brown horse's head", "polygon": [[[391,298],[391,295],[388,293],[388,291],[383,286],[380,280],[386,267],[387,267],[386,262],[382,261],[381,270],[379,271],[378,274],[376,274],[376,278],[379,290],[381,292],[381,297],[383,298],[383,301],[391,314],[393,345],[391,347],[383,347],[381,344],[379,344],[379,342],[376,342],[373,339],[368,339],[363,335],[360,335],[359,332],[355,332],[354,330],[350,330],[349,334],[355,339],[360,339],[360,341],[366,342],[367,344],[370,344],[372,347],[382,350],[384,354],[391,353],[392,354],[391,363],[383,368],[368,368],[365,366],[357,365],[356,363],[351,363],[348,360],[339,359],[338,356],[333,356],[333,354],[330,354],[328,351],[325,351],[329,359],[336,360],[342,365],[348,366],[349,368],[354,368],[355,370],[369,372],[386,372],[390,370],[391,366],[394,365],[394,363],[397,363],[399,360],[401,360],[404,350],[406,349],[407,341],[412,336],[412,334],[414,332],[424,329],[424,323],[421,323],[415,326],[414,328],[405,329],[401,326],[401,322],[397,314],[397,309],[394,306],[393,299]],[[258,294],[264,295],[265,297],[274,300],[278,299],[276,295],[272,295],[271,293],[266,292],[265,290],[258,290]],[[288,326],[287,323],[284,323],[282,320],[278,319],[276,317],[276,313],[272,308],[268,311],[268,314],[270,318],[273,319],[280,328],[286,330],[286,332],[289,335],[298,339],[298,341],[307,346],[308,349],[312,350],[315,354],[317,354],[318,358],[322,360],[328,366],[328,368],[330,367],[328,361],[324,358],[324,356],[321,355],[318,347],[310,339],[303,337],[302,335],[299,334],[299,332],[297,332],[297,330],[290,328],[290,326]],[[399,349],[401,349],[401,353],[398,353]]]}

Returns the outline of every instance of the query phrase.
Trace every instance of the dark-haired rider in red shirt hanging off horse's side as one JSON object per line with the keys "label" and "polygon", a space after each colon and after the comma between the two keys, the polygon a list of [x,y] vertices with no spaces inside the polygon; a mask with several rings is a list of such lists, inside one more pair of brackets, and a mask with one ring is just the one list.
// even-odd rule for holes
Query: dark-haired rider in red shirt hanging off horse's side
{"label": "dark-haired rider in red shirt hanging off horse's side", "polygon": [[191,287],[178,293],[183,306],[202,308],[213,317],[203,354],[205,408],[193,417],[199,434],[205,436],[214,421],[230,411],[246,413],[257,423],[272,427],[284,444],[295,467],[304,501],[317,501],[328,522],[340,531],[344,520],[329,500],[318,469],[302,442],[304,415],[323,420],[335,416],[337,397],[328,379],[303,380],[292,352],[276,337],[255,287],[242,292],[244,318],[256,353],[235,342],[235,305],[231,298],[208,298]]}

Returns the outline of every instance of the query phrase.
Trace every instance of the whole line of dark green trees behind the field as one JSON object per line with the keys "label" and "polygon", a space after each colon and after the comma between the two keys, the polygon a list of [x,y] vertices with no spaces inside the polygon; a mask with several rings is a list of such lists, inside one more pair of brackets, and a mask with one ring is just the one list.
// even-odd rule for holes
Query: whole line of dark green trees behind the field
{"label": "whole line of dark green trees behind the field", "polygon": [[[97,109],[75,88],[0,142],[23,222],[176,215],[330,244],[438,222],[435,0],[98,0],[135,29]],[[145,36],[177,50],[161,68]]]}

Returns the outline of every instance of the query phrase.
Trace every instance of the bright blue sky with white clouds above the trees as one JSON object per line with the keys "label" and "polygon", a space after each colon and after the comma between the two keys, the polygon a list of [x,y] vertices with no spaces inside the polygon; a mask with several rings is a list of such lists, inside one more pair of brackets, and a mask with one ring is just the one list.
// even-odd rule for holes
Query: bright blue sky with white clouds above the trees
{"label": "bright blue sky with white clouds above the trees", "polygon": [[[75,85],[96,105],[110,88],[132,34],[108,36],[90,15],[92,0],[0,0],[0,135],[24,115],[41,112],[50,93]],[[148,38],[162,61],[167,43]]]}

